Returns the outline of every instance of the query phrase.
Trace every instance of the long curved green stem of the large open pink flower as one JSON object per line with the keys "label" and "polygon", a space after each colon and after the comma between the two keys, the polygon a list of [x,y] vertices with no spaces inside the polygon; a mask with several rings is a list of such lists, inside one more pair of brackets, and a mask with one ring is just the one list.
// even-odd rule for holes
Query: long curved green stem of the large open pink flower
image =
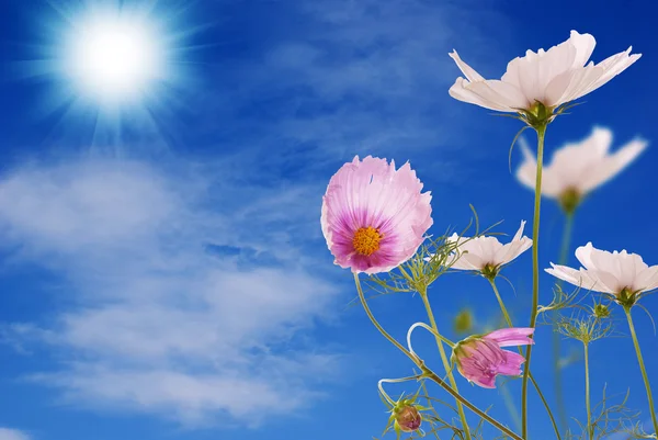
{"label": "long curved green stem of the large open pink flower", "polygon": [[522,437],[520,437],[519,435],[512,432],[504,425],[502,425],[501,422],[499,422],[498,420],[496,420],[495,418],[492,418],[491,416],[489,416],[487,413],[485,413],[481,409],[479,409],[477,406],[473,405],[465,397],[463,397],[460,393],[457,393],[456,391],[454,391],[447,383],[445,383],[445,381],[443,381],[441,377],[439,377],[432,370],[430,370],[429,368],[427,368],[424,365],[424,362],[420,358],[418,358],[417,356],[412,354],[409,350],[407,350],[405,347],[402,347],[402,345],[399,343],[393,336],[388,335],[388,332],[384,329],[384,327],[382,327],[379,325],[379,323],[377,321],[377,319],[375,319],[375,316],[371,312],[371,309],[370,309],[370,307],[367,305],[367,302],[365,301],[365,296],[363,295],[363,290],[361,289],[361,282],[359,281],[359,274],[358,273],[354,273],[354,282],[356,283],[356,291],[359,292],[359,300],[361,301],[361,305],[363,306],[363,308],[365,311],[365,314],[367,315],[367,317],[370,318],[370,320],[373,323],[373,325],[375,326],[375,328],[377,330],[379,330],[379,332],[386,339],[388,339],[388,341],[390,343],[393,343],[402,353],[405,353],[416,364],[416,366],[418,366],[423,372],[423,376],[426,376],[429,380],[431,380],[432,382],[436,383],[439,386],[441,386],[443,390],[445,390],[451,396],[453,396],[455,399],[460,400],[460,403],[462,405],[464,405],[466,408],[470,409],[473,413],[477,414],[479,417],[481,417],[483,419],[485,419],[488,424],[490,424],[491,426],[496,427],[501,432],[503,432],[504,435],[509,436],[511,439],[513,439],[513,440],[523,440]]}

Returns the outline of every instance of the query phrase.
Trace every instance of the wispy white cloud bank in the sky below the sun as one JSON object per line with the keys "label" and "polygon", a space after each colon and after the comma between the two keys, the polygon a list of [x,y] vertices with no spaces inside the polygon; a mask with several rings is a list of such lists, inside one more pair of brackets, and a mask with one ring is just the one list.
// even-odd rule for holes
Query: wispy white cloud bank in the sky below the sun
{"label": "wispy white cloud bank in the sky below the sun", "polygon": [[[61,303],[76,304],[46,328],[4,326],[3,339],[58,350],[63,369],[32,377],[84,406],[198,426],[225,414],[258,424],[319,398],[315,377],[330,377],[339,357],[305,338],[331,318],[337,290],[310,274],[313,252],[291,238],[317,238],[308,200],[320,194],[275,183],[249,191],[216,169],[183,168],[82,160],[0,180],[10,263],[63,274]],[[246,249],[274,263],[252,263]]]}

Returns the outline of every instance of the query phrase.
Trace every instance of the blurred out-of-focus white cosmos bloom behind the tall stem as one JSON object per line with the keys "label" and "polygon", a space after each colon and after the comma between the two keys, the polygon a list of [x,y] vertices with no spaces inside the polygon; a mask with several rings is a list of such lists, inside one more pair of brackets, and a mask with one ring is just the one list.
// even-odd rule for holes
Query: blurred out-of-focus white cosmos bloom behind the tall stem
{"label": "blurred out-of-focus white cosmos bloom behind the tall stem", "polygon": [[[571,196],[579,200],[626,168],[647,144],[642,139],[631,140],[611,154],[612,132],[594,127],[585,140],[567,144],[554,153],[551,163],[543,167],[542,194],[551,199]],[[517,178],[534,190],[537,162],[524,144],[521,148],[524,161],[517,170]]]}

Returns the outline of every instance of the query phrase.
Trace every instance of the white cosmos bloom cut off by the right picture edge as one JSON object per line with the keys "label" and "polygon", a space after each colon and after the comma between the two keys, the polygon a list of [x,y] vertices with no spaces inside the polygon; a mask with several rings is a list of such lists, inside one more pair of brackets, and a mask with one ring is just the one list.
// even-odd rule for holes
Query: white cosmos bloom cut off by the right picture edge
{"label": "white cosmos bloom cut off by the right picture edge", "polygon": [[617,298],[631,294],[631,297],[637,297],[658,289],[658,266],[647,266],[637,253],[609,252],[588,242],[576,249],[576,258],[583,268],[578,270],[551,263],[553,268],[546,272],[570,284]]}

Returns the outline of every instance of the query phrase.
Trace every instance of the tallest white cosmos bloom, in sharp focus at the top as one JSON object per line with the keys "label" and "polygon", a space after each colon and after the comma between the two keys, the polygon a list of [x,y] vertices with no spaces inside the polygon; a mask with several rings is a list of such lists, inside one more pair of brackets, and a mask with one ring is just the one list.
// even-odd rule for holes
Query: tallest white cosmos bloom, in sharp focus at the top
{"label": "tallest white cosmos bloom, in sharp focus at the top", "polygon": [[554,109],[594,91],[642,56],[629,55],[628,47],[598,65],[586,65],[595,44],[590,34],[571,31],[569,40],[546,52],[527,50],[524,57],[512,59],[500,80],[483,78],[453,50],[450,56],[466,78],[457,78],[450,95],[501,112],[530,110],[536,101]]}

